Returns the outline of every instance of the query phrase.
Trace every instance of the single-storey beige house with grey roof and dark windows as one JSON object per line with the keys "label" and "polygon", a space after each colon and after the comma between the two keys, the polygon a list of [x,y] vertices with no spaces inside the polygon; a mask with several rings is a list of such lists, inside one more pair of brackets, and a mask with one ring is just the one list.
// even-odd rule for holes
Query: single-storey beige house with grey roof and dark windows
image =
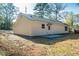
{"label": "single-storey beige house with grey roof and dark windows", "polygon": [[15,34],[27,36],[40,36],[48,34],[68,33],[68,25],[45,18],[39,18],[34,15],[20,13],[13,25]]}

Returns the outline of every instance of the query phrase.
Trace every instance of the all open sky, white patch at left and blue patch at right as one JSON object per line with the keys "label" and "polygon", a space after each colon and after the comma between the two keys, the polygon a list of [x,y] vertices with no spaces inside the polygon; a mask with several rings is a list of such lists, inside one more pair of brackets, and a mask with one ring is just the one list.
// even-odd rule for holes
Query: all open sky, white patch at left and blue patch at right
{"label": "all open sky, white patch at left and blue patch at right", "polygon": [[[15,6],[19,7],[20,12],[25,13],[25,7],[27,8],[27,14],[33,14],[34,3],[14,3]],[[79,5],[75,3],[67,3],[65,11],[79,13]]]}

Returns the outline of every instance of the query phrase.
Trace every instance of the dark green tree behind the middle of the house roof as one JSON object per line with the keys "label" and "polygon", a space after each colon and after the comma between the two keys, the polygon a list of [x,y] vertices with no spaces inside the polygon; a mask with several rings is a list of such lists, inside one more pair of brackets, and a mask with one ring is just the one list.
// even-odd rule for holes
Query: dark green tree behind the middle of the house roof
{"label": "dark green tree behind the middle of the house roof", "polygon": [[48,3],[37,3],[34,7],[34,14],[38,17],[44,18],[45,14],[48,13],[49,5]]}

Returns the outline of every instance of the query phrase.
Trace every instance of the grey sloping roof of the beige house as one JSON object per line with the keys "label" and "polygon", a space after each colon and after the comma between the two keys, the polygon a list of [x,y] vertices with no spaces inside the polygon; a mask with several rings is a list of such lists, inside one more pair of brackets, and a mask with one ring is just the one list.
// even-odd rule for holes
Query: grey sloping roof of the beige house
{"label": "grey sloping roof of the beige house", "polygon": [[[58,21],[58,20],[53,20],[53,19],[50,20],[50,19],[46,19],[46,18],[40,18],[40,17],[31,15],[31,14],[20,13],[19,16],[25,16],[26,18],[28,18],[31,21],[42,21],[42,22],[47,22],[47,23],[62,23],[61,21]],[[62,23],[62,24],[64,24],[64,23]],[[66,24],[64,24],[64,25],[66,25]]]}

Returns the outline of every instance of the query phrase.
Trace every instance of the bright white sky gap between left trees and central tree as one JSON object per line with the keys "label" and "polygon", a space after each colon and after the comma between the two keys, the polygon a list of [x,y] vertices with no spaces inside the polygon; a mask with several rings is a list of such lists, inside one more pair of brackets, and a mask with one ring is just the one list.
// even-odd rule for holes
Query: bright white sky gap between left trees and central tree
{"label": "bright white sky gap between left trees and central tree", "polygon": [[27,11],[27,14],[33,14],[34,3],[14,3],[14,5],[19,7],[20,12],[22,13]]}

